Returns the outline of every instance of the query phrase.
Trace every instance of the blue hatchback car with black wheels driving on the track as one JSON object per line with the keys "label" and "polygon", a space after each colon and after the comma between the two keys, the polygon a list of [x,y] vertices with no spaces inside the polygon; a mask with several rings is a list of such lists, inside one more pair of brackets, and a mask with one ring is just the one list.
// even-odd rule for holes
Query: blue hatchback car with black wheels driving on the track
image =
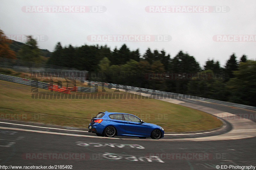
{"label": "blue hatchback car with black wheels driving on the track", "polygon": [[143,122],[135,115],[116,112],[100,112],[88,126],[89,132],[98,136],[134,136],[141,139],[164,137],[164,129],[152,123]]}

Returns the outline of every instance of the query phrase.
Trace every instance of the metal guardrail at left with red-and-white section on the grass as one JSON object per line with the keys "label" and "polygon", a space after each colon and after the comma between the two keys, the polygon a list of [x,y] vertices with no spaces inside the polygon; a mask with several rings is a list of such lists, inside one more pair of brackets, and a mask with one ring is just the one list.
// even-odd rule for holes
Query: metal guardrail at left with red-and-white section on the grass
{"label": "metal guardrail at left with red-and-white section on the grass", "polygon": [[29,80],[26,78],[19,78],[19,77],[14,77],[14,76],[8,76],[4,74],[0,74],[0,80],[5,80],[5,81],[11,81],[14,83],[20,83],[23,85],[29,85],[33,87],[38,87],[38,88],[43,88],[47,90],[52,90],[56,92],[62,92],[62,93],[70,93],[70,91],[75,91],[75,92],[97,92],[97,88],[95,87],[79,87],[79,86],[74,86],[74,87],[60,87],[58,85],[52,85],[49,83],[44,83],[44,82],[39,82],[35,80]]}

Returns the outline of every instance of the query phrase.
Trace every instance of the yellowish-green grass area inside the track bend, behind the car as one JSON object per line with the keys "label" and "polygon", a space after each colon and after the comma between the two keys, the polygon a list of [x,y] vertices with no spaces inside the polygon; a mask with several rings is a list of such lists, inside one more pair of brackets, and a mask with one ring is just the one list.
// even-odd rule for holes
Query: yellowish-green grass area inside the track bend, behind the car
{"label": "yellowish-green grass area inside the track bend, behind the car", "polygon": [[[137,115],[143,121],[162,126],[166,132],[208,130],[220,127],[222,122],[205,112],[134,95],[133,99],[88,98],[85,99],[33,99],[33,88],[0,80],[0,118],[28,122],[40,122],[61,126],[87,128],[98,112],[122,112]],[[33,89],[33,90],[32,90]],[[99,94],[126,92],[101,89]],[[63,94],[38,88],[38,92]],[[37,93],[37,92],[36,92]],[[88,93],[72,92],[72,95]],[[129,93],[130,94],[130,93]],[[95,97],[95,96],[94,96]],[[136,99],[137,98],[137,99]]]}

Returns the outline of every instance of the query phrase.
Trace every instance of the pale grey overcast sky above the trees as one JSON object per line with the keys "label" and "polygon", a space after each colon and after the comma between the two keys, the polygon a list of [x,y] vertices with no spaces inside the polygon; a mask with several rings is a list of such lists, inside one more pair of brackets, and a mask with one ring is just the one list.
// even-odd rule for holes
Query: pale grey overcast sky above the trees
{"label": "pale grey overcast sky above the trees", "polygon": [[[139,48],[141,55],[148,47],[164,49],[171,58],[183,50],[201,66],[208,58],[223,66],[232,53],[237,59],[245,54],[256,60],[255,0],[0,0],[0,4],[0,29],[5,35],[16,41],[22,35],[40,35],[39,48],[50,51],[58,41],[62,46],[107,44],[111,49],[125,43],[131,50]],[[90,35],[98,42],[92,42]],[[100,41],[102,35],[108,38]],[[128,35],[130,41],[124,36],[113,41],[115,35]],[[133,41],[134,35],[140,35],[139,41]],[[145,41],[143,36],[148,35],[167,38]]]}

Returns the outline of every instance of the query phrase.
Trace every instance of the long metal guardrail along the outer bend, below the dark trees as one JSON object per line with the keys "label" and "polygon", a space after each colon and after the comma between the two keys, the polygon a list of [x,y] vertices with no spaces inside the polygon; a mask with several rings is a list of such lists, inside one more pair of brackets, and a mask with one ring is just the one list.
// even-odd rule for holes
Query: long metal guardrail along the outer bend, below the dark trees
{"label": "long metal guardrail along the outer bend, below the dark trees", "polygon": [[86,81],[86,82],[100,84],[100,85],[111,85],[113,87],[116,87],[117,89],[123,89],[123,90],[127,90],[127,91],[138,92],[138,93],[146,93],[146,94],[152,95],[151,97],[156,98],[156,99],[160,99],[160,98],[195,99],[195,100],[208,101],[208,102],[222,104],[222,105],[231,106],[231,107],[251,109],[251,110],[256,111],[256,107],[254,107],[254,106],[247,106],[247,105],[231,103],[231,102],[227,102],[227,101],[208,99],[208,98],[203,98],[203,97],[198,97],[198,96],[191,96],[191,95],[178,94],[178,93],[172,93],[172,92],[164,92],[164,91],[159,91],[159,90],[145,89],[145,88],[140,88],[140,87],[133,87],[133,86],[128,86],[128,85],[118,85],[118,84],[104,83],[104,82],[97,82],[97,81]]}

